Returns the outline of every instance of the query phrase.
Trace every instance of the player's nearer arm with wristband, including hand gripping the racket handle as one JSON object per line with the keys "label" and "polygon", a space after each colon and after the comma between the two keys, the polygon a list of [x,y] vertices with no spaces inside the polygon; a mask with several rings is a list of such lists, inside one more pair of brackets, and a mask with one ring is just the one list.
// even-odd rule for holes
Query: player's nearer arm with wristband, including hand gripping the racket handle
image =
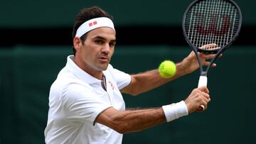
{"label": "player's nearer arm with wristband, including hand gripping the racket handle", "polygon": [[185,116],[188,113],[193,113],[202,104],[207,108],[207,104],[210,101],[208,93],[206,87],[193,89],[185,101],[163,106],[165,111],[163,108],[117,111],[111,107],[100,113],[95,122],[108,126],[119,133],[142,131]]}

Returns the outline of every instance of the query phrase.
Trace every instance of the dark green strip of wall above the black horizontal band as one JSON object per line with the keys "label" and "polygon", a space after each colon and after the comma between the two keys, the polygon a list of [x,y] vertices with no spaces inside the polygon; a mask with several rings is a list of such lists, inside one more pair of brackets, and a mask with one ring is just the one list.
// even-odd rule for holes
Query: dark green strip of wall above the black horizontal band
{"label": "dark green strip of wall above the black horizontal band", "polygon": [[[183,13],[192,0],[182,1],[68,1],[68,0],[9,0],[1,1],[0,27],[70,27],[82,8],[100,6],[114,16],[117,26],[175,25],[180,26]],[[255,1],[235,0],[243,15],[243,23],[255,25]]]}

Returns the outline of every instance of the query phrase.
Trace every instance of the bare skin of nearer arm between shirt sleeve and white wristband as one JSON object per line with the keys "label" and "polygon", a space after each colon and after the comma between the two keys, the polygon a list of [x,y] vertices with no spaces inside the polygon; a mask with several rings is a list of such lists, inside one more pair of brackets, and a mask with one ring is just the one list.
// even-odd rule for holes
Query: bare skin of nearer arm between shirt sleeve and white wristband
{"label": "bare skin of nearer arm between shirt sleeve and white wristband", "polygon": [[142,131],[165,121],[166,118],[162,108],[126,111],[117,111],[110,108],[101,113],[96,122],[102,123],[119,133],[129,133]]}

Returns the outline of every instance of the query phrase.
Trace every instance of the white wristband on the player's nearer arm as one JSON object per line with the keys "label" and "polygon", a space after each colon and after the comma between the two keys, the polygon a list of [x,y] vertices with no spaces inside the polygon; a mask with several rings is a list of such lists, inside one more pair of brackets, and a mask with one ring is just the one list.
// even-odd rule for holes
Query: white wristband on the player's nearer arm
{"label": "white wristband on the player's nearer arm", "polygon": [[173,121],[174,119],[179,118],[181,116],[188,115],[188,108],[186,107],[184,101],[162,106],[162,108],[164,110],[164,115],[166,116],[167,122]]}

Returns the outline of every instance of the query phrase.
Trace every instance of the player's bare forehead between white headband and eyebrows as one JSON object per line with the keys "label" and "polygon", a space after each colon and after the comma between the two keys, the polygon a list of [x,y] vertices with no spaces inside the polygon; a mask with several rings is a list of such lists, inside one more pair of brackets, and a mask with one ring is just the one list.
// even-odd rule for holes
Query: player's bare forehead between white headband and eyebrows
{"label": "player's bare forehead between white headband and eyebrows", "polygon": [[107,40],[115,40],[116,39],[115,31],[112,28],[108,28],[108,27],[96,28],[87,33],[87,38],[95,38],[98,36],[105,38]]}

